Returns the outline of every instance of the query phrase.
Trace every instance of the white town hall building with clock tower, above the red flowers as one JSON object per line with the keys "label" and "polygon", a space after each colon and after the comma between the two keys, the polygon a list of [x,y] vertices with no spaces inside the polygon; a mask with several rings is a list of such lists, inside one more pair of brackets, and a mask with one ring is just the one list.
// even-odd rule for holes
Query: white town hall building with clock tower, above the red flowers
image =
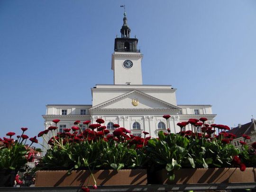
{"label": "white town hall building with clock tower, above the red flowers", "polygon": [[[111,69],[114,71],[114,84],[96,84],[91,88],[92,105],[46,105],[45,129],[55,125],[52,120],[60,119],[58,127],[71,128],[73,122],[85,120],[96,123],[102,118],[108,129],[119,124],[134,135],[146,131],[157,137],[159,130],[166,130],[168,119],[171,133],[180,132],[176,124],[190,118],[208,118],[214,123],[211,105],[177,105],[176,89],[171,85],[145,85],[142,83],[141,60],[143,54],[137,50],[137,38],[130,38],[130,28],[124,13],[121,37],[115,39]],[[83,126],[83,125],[81,125]]]}

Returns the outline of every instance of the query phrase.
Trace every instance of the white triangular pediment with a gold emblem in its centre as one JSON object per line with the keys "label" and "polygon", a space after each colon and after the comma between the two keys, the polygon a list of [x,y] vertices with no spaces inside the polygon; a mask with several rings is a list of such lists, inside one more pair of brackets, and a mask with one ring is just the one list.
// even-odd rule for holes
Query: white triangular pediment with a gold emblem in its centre
{"label": "white triangular pediment with a gold emblem in its centre", "polygon": [[91,109],[180,109],[163,100],[159,100],[144,92],[133,90],[120,95]]}

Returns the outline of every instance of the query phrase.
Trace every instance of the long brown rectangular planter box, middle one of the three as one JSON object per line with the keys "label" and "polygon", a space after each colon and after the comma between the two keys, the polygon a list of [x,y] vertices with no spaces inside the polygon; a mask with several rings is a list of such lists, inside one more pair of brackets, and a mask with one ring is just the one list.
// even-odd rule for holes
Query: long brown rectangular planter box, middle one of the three
{"label": "long brown rectangular planter box, middle one of the three", "polygon": [[[146,169],[94,170],[93,176],[97,185],[145,185]],[[82,186],[94,185],[88,170],[72,171],[37,171],[36,187]]]}

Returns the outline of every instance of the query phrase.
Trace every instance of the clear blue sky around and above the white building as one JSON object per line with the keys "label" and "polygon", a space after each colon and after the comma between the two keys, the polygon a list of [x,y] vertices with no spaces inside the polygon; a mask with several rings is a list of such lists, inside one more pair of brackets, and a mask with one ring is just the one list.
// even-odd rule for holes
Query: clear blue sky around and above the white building
{"label": "clear blue sky around and above the white building", "polygon": [[91,104],[91,87],[113,83],[122,3],[144,84],[211,104],[218,124],[256,117],[256,0],[0,0],[0,137],[37,135],[46,104]]}

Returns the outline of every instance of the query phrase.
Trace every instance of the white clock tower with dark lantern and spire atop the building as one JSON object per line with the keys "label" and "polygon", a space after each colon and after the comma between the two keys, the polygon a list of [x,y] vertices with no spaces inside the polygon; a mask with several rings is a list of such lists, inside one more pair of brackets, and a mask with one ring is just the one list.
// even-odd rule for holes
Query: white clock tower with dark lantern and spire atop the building
{"label": "white clock tower with dark lantern and spire atop the building", "polygon": [[121,38],[115,39],[111,69],[114,71],[114,84],[142,84],[141,60],[143,55],[137,50],[138,39],[130,38],[130,28],[124,12]]}

